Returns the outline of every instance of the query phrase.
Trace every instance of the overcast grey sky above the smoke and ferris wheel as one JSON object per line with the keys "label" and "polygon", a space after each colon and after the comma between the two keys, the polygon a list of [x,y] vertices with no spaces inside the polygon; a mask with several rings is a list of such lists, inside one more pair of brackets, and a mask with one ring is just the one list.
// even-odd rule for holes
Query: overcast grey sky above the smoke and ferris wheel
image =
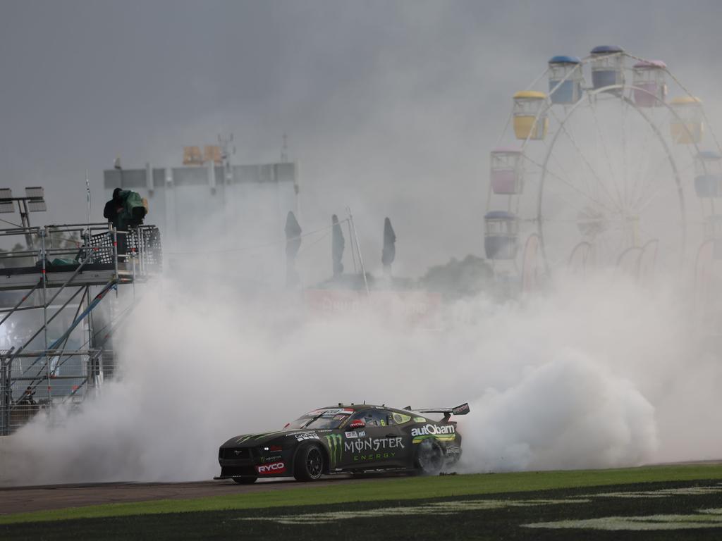
{"label": "overcast grey sky above the smoke and ferris wheel", "polygon": [[352,205],[369,250],[391,217],[408,273],[482,255],[487,154],[511,94],[549,57],[601,44],[666,61],[722,130],[719,1],[0,7],[0,187],[43,185],[38,224],[84,220],[86,168],[100,219],[116,154],[179,165],[184,145],[232,132],[235,163],[269,162],[286,132],[306,230]]}

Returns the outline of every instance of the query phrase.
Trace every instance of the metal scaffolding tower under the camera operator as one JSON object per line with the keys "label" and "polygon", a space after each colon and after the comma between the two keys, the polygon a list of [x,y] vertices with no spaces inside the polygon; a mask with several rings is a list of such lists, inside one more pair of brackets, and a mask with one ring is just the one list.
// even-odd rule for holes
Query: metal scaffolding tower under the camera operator
{"label": "metal scaffolding tower under the camera operator", "polygon": [[111,291],[160,273],[162,248],[152,225],[23,226],[0,229],[2,237],[27,246],[0,252],[0,435],[7,435],[40,410],[81,401],[112,374],[109,340],[133,303],[122,312],[111,307],[102,326],[92,315]]}

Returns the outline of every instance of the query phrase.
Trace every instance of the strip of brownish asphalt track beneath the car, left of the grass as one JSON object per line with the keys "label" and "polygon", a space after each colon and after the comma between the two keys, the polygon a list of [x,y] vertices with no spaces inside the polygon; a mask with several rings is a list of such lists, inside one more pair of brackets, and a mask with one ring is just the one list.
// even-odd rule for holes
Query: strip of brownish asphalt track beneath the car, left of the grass
{"label": "strip of brownish asphalt track beneath the car, left of the grass", "polygon": [[[359,483],[375,478],[352,479],[350,476],[327,478],[313,483],[314,487],[336,483]],[[386,476],[388,479],[388,475]],[[305,483],[293,479],[258,481],[253,485],[239,485],[232,480],[199,481],[196,483],[89,483],[77,485],[46,485],[0,488],[0,515],[27,511],[45,511],[162,499],[203,498],[229,494],[283,491]]]}

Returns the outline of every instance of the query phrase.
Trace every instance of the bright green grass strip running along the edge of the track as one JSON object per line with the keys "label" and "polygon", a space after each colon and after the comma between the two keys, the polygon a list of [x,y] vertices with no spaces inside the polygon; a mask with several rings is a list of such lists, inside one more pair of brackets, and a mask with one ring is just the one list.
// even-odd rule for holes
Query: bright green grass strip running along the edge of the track
{"label": "bright green grass strip running along the edge of the track", "polygon": [[684,465],[625,468],[618,470],[570,470],[449,475],[434,478],[393,478],[368,483],[339,483],[314,488],[306,483],[284,491],[243,493],[193,499],[166,499],[99,506],[72,507],[0,516],[0,524],[48,522],[71,519],[188,511],[225,511],[271,507],[326,505],[357,501],[409,500],[446,496],[543,491],[630,483],[722,479],[722,465]]}

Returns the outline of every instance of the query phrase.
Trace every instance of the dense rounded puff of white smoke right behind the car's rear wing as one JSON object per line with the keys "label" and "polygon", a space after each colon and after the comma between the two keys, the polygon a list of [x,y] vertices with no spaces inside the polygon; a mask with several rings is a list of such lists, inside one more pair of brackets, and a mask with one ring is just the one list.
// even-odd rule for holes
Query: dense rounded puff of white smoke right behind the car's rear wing
{"label": "dense rounded puff of white smoke right behind the car's rear wing", "polygon": [[[656,451],[654,408],[632,382],[575,351],[471,403],[470,470],[636,465]],[[471,456],[469,456],[471,455]]]}

